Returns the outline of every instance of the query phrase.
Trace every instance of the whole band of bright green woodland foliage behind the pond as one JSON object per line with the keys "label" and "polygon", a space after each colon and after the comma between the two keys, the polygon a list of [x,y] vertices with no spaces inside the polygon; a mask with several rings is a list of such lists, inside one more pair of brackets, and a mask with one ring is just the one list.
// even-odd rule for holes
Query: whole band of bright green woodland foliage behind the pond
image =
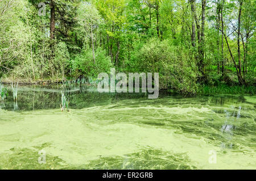
{"label": "whole band of bright green woodland foliage behind the pond", "polygon": [[[237,0],[207,3],[202,61],[201,43],[197,40],[201,18],[196,25],[190,1],[52,1],[55,39],[49,37],[51,1],[46,1],[46,16],[38,15],[39,2],[0,1],[0,77],[11,81],[65,80],[66,77],[88,80],[88,77],[95,79],[98,73],[109,72],[114,66],[126,73],[159,72],[160,88],[184,94],[196,94],[199,85],[241,82],[234,66],[234,62],[239,65],[234,31],[238,28],[238,23],[234,23],[238,21]],[[218,30],[221,8],[224,33],[226,36],[231,33],[227,37],[230,51]],[[256,81],[254,11],[255,2],[243,0],[240,60],[245,85],[255,85]],[[201,16],[202,1],[195,1],[195,13]],[[193,23],[195,40],[192,42]]]}

